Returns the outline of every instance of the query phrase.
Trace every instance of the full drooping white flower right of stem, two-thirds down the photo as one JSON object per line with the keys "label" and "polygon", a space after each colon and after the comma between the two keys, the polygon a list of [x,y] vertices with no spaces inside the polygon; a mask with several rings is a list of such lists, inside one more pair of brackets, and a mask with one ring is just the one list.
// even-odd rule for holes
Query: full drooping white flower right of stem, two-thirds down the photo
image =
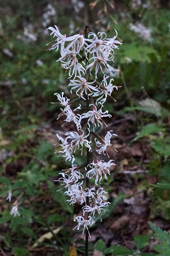
{"label": "full drooping white flower right of stem, two-thirds down the photo", "polygon": [[[114,163],[112,163],[112,161],[114,160],[109,160],[109,162],[104,162],[104,160],[98,161],[98,159],[96,159],[96,163],[93,160],[93,163],[89,164],[88,166],[90,166],[90,170],[86,173],[86,176],[88,178],[93,178],[95,177],[95,184],[97,185],[97,181],[98,181],[98,176],[100,176],[99,179],[99,183],[102,179],[102,177],[105,177],[105,180],[107,180],[107,174],[110,175],[110,171],[109,171],[109,167],[111,165],[115,165]],[[91,176],[90,176],[91,175]]]}

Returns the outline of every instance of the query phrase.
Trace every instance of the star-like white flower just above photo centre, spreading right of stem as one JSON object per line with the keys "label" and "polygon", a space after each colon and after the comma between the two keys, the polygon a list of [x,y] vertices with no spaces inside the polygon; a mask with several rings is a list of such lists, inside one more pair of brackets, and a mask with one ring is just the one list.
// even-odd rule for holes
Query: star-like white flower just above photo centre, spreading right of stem
{"label": "star-like white flower just above photo centre, spreading right of stem", "polygon": [[104,120],[102,118],[103,117],[109,117],[109,118],[111,117],[111,115],[108,114],[108,111],[106,110],[105,112],[102,112],[102,107],[101,107],[101,109],[97,110],[96,106],[93,104],[90,104],[89,106],[93,106],[93,110],[88,111],[87,113],[84,113],[81,115],[81,119],[88,118],[88,120],[87,120],[88,127],[90,128],[90,122],[91,122],[93,124],[93,132],[94,132],[96,123],[97,123],[98,127],[101,125],[101,128],[103,126],[102,122],[107,126],[107,124],[104,122]]}

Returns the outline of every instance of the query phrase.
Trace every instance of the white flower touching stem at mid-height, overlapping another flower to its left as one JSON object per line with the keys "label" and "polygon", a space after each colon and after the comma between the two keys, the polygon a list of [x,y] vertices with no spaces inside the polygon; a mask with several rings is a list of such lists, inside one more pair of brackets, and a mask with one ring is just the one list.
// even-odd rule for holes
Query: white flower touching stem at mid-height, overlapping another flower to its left
{"label": "white flower touching stem at mid-height, overlapping another flower to its left", "polygon": [[81,145],[81,155],[83,154],[83,145],[86,146],[89,149],[89,151],[92,151],[90,146],[91,141],[88,141],[86,139],[88,137],[88,134],[84,136],[83,131],[81,135],[79,135],[77,132],[66,132],[65,136],[67,136],[66,140],[68,139],[72,140],[71,145],[74,152],[77,148],[79,149],[79,144]]}

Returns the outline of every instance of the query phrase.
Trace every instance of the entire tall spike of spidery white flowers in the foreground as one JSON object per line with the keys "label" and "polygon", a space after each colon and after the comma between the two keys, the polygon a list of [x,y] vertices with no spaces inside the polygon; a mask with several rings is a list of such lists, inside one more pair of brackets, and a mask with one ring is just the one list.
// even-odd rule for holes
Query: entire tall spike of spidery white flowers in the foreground
{"label": "entire tall spike of spidery white flowers in the foreground", "polygon": [[[61,182],[61,189],[66,189],[64,193],[69,197],[67,201],[70,204],[79,202],[82,205],[83,216],[77,216],[74,219],[78,223],[75,228],[79,230],[83,226],[83,233],[85,229],[89,233],[88,227],[95,223],[95,213],[98,213],[101,219],[101,211],[105,211],[104,208],[110,204],[107,202],[107,192],[103,188],[89,188],[86,181],[94,179],[95,185],[98,186],[98,182],[100,184],[102,178],[107,180],[110,175],[109,168],[115,165],[114,160],[108,162],[98,160],[97,154],[109,157],[107,149],[112,147],[112,136],[117,135],[112,131],[107,131],[105,136],[100,137],[96,134],[95,129],[102,128],[103,124],[107,126],[104,118],[111,117],[107,110],[103,111],[102,109],[108,96],[114,100],[111,94],[114,89],[118,90],[118,87],[112,84],[113,78],[109,80],[105,71],[111,72],[111,74],[117,73],[118,70],[114,69],[111,63],[114,59],[114,51],[119,49],[121,43],[116,40],[116,30],[114,37],[107,38],[105,33],[98,32],[96,35],[89,31],[87,26],[84,31],[81,30],[74,35],[62,35],[57,26],[48,29],[51,30],[50,35],[55,38],[52,41],[54,44],[49,50],[58,51],[60,49],[61,57],[57,61],[60,61],[61,66],[68,71],[70,92],[75,92],[78,96],[77,101],[81,101],[81,104],[72,110],[73,108],[70,106],[77,101],[70,101],[64,96],[64,92],[55,93],[58,102],[53,103],[60,103],[62,106],[58,118],[66,116],[64,121],[66,123],[74,122],[77,128],[77,131],[66,132],[64,137],[56,134],[60,147],[56,153],[61,153],[66,161],[72,161],[72,167],[59,173],[60,177],[56,181]],[[101,82],[97,81],[99,71],[103,73]],[[84,107],[86,102],[88,111],[87,107]],[[84,109],[87,112],[84,112]],[[90,140],[90,136],[95,136],[95,139]],[[82,155],[84,147],[87,155],[91,152],[93,154],[90,154],[90,157],[87,156],[87,161],[84,161],[84,164],[77,166],[74,153],[80,150]]]}

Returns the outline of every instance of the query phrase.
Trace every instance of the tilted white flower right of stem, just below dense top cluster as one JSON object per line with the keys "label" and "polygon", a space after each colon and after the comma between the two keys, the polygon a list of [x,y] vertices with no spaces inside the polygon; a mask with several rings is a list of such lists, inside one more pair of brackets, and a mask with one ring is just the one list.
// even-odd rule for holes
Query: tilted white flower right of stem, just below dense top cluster
{"label": "tilted white flower right of stem, just below dense top cluster", "polygon": [[110,79],[109,84],[107,84],[107,78],[109,78],[109,76],[105,76],[104,75],[104,79],[102,80],[100,89],[101,91],[99,93],[94,93],[93,97],[97,97],[100,96],[97,100],[96,100],[96,104],[97,102],[99,102],[102,106],[104,104],[104,102],[106,101],[107,95],[109,95],[114,101],[116,101],[112,96],[111,93],[114,90],[114,88],[116,88],[116,90],[118,90],[118,87],[115,85],[112,85],[112,81],[114,81],[113,79]]}

